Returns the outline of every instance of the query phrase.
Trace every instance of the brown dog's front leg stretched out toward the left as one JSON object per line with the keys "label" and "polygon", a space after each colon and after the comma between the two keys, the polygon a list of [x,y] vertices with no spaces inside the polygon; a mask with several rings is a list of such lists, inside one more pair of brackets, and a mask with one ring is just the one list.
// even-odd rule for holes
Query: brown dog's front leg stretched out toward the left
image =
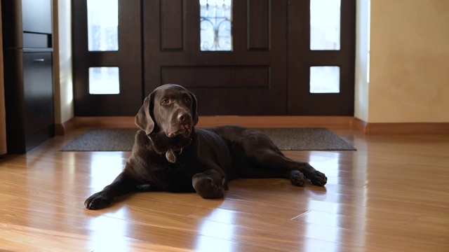
{"label": "brown dog's front leg stretched out toward the left", "polygon": [[109,186],[106,186],[100,192],[94,193],[91,197],[88,197],[86,202],[84,202],[84,206],[86,206],[87,209],[105,208],[111,204],[115,197],[137,190],[137,185],[137,181],[131,179],[130,176],[122,172]]}

